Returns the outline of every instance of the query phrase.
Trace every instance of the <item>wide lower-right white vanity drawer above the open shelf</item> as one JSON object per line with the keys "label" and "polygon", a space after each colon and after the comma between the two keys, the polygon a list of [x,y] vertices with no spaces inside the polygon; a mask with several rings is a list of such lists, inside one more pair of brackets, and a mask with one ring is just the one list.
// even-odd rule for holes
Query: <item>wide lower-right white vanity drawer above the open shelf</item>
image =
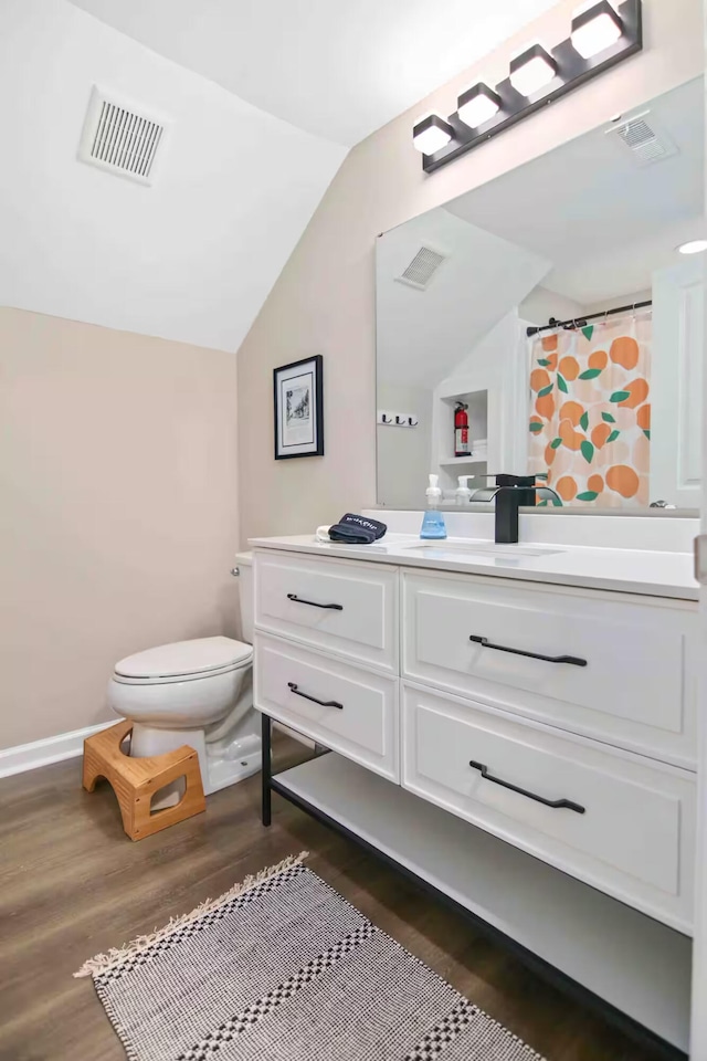
{"label": "wide lower-right white vanity drawer above the open shelf", "polygon": [[404,788],[692,931],[694,775],[428,690],[402,700]]}

